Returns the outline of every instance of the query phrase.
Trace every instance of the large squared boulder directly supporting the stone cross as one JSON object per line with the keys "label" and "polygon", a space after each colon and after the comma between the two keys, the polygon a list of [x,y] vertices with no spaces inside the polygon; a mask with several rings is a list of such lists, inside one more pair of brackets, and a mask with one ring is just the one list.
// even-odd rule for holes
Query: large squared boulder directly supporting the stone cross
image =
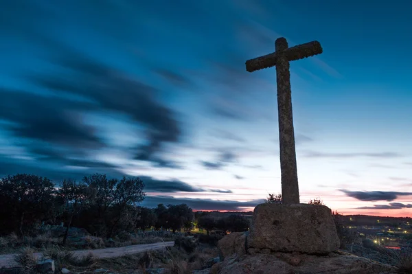
{"label": "large squared boulder directly supporting the stone cross", "polygon": [[247,241],[251,248],[282,252],[330,253],[340,246],[330,209],[307,204],[258,205]]}

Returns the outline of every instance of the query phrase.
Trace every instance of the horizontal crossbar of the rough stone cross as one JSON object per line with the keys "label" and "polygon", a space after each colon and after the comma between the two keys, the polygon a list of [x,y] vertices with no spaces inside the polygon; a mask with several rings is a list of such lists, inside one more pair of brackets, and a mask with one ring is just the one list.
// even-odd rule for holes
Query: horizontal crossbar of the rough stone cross
{"label": "horizontal crossbar of the rough stone cross", "polygon": [[321,43],[312,41],[306,44],[289,47],[282,52],[273,52],[258,58],[253,58],[246,61],[246,70],[249,72],[257,71],[259,69],[266,69],[267,67],[274,67],[277,62],[279,54],[285,54],[289,61],[299,60],[321,54],[323,49]]}

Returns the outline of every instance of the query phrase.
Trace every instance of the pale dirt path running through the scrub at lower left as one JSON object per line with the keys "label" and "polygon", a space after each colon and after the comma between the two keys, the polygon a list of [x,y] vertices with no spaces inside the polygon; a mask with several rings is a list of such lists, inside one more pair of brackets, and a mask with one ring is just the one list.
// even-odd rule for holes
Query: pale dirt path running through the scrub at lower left
{"label": "pale dirt path running through the scrub at lower left", "polygon": [[[92,253],[96,258],[113,258],[121,257],[128,254],[141,253],[148,250],[163,249],[164,247],[171,247],[174,242],[156,242],[155,244],[135,244],[127,247],[110,247],[108,249],[84,249],[76,250],[73,253],[77,256],[84,256]],[[37,258],[41,258],[42,253],[34,253]],[[14,254],[0,255],[1,267],[14,267],[16,263],[13,260]]]}

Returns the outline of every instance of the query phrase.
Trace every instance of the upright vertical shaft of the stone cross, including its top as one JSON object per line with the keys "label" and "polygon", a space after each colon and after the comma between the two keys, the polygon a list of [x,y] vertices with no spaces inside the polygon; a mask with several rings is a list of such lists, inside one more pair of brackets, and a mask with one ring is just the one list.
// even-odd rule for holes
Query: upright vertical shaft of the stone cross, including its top
{"label": "upright vertical shaft of the stone cross, including its top", "polygon": [[[286,39],[278,38],[275,42],[275,52],[281,53],[286,49],[288,49]],[[299,185],[297,183],[289,60],[284,54],[279,54],[277,58],[276,82],[282,201],[284,204],[293,204],[299,203]]]}

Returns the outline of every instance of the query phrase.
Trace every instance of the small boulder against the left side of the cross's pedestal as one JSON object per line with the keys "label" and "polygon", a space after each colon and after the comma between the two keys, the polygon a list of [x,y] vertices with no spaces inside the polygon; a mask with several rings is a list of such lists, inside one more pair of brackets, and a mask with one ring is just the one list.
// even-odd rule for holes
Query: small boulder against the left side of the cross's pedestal
{"label": "small boulder against the left side of the cross's pedestal", "polygon": [[223,258],[236,253],[238,255],[246,254],[246,232],[232,232],[223,237],[218,242],[218,248],[222,251]]}

